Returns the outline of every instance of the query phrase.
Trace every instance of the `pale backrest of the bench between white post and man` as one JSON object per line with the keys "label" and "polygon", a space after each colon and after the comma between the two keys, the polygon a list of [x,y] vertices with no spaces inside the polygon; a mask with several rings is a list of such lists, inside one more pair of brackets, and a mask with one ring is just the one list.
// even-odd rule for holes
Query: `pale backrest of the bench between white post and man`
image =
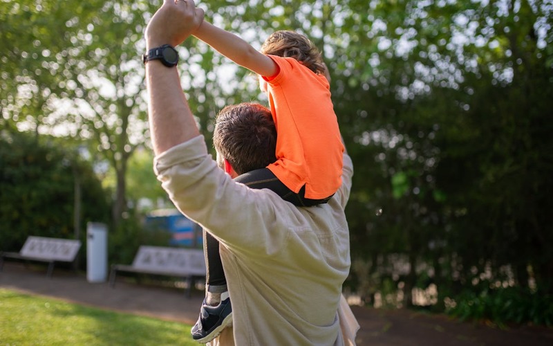
{"label": "pale backrest of the bench between white post and man", "polygon": [[140,246],[133,267],[169,275],[205,275],[205,257],[196,248]]}

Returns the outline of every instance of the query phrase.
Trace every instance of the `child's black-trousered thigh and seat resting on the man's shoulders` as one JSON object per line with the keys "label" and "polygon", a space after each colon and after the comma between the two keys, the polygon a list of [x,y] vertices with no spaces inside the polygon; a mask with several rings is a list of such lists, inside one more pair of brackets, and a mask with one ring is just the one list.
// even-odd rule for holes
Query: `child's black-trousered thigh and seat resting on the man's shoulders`
{"label": "child's black-trousered thigh and seat resting on the man's shoulders", "polygon": [[238,176],[234,181],[243,183],[247,187],[252,189],[269,189],[272,192],[278,194],[281,199],[288,201],[294,206],[310,207],[317,206],[317,204],[327,203],[332,197],[329,196],[326,199],[307,199],[305,197],[306,187],[303,186],[298,193],[293,192],[286,187],[277,176],[275,176],[268,168],[261,168],[259,170],[253,170]]}

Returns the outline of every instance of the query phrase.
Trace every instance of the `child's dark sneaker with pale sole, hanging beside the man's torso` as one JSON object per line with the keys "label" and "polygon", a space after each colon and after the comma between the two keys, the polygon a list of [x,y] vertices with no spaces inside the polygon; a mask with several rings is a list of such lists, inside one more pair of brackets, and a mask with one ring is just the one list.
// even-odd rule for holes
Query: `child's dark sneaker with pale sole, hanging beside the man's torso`
{"label": "child's dark sneaker with pale sole, hanging beside the man's torso", "polygon": [[210,307],[203,301],[200,318],[192,327],[192,338],[198,343],[209,343],[221,331],[232,325],[232,306],[230,298],[221,301],[216,307]]}

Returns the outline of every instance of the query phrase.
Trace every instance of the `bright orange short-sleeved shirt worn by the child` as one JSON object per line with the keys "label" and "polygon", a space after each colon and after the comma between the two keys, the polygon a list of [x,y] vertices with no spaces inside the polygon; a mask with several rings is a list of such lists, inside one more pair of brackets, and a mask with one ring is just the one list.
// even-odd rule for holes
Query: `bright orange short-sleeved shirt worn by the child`
{"label": "bright orange short-sleeved shirt worn by the child", "polygon": [[306,185],[308,199],[329,197],[341,185],[344,145],[328,80],[292,57],[268,56],[280,68],[263,77],[277,127],[277,161],[268,169],[294,192]]}

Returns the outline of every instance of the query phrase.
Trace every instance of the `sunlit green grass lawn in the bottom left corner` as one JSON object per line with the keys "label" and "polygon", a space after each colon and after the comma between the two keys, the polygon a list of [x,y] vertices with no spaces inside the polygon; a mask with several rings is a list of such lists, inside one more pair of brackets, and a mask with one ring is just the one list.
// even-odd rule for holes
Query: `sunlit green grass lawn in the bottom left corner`
{"label": "sunlit green grass lawn in the bottom left corner", "polygon": [[0,289],[0,345],[195,345],[189,325]]}

